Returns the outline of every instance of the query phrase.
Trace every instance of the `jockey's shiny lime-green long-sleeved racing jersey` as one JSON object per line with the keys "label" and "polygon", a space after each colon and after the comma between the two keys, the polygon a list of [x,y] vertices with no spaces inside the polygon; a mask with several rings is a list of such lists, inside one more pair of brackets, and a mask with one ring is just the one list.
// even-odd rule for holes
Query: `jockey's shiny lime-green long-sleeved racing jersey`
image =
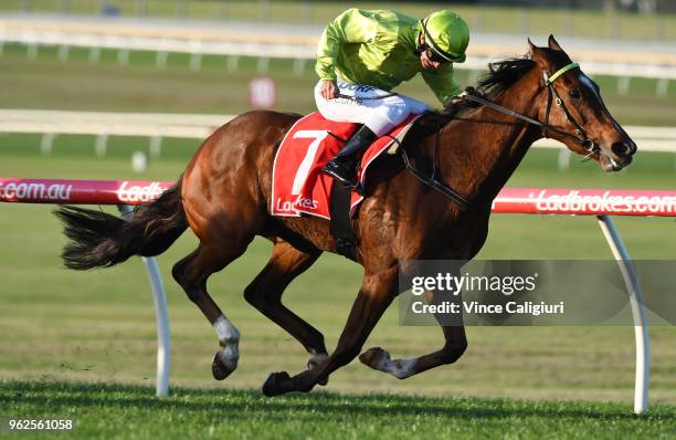
{"label": "jockey's shiny lime-green long-sleeved racing jersey", "polygon": [[391,91],[419,72],[442,104],[460,94],[453,63],[423,69],[415,53],[420,21],[387,10],[348,9],[329,23],[317,48],[321,80],[342,80]]}

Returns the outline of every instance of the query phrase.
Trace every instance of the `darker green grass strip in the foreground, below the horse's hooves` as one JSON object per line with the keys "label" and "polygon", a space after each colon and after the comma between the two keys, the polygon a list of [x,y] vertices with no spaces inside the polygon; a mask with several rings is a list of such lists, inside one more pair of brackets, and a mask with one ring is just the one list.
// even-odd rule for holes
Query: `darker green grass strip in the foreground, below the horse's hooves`
{"label": "darker green grass strip in the foreground, below the horse's hooves", "polygon": [[[74,439],[669,439],[676,408],[636,417],[615,404],[431,398],[315,392],[265,398],[256,391],[0,383],[0,412],[75,419]],[[44,438],[44,433],[21,438]]]}

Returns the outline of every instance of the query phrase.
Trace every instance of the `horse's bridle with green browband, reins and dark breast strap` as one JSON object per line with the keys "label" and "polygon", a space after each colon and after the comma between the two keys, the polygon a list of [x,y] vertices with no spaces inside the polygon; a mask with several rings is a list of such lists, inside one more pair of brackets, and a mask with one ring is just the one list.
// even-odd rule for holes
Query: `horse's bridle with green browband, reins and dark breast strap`
{"label": "horse's bridle with green browband, reins and dark breast strap", "polygon": [[[466,92],[467,94],[463,95],[463,99],[467,99],[467,101],[472,101],[482,105],[485,105],[489,108],[493,108],[497,112],[504,113],[506,115],[516,117],[517,119],[521,119],[527,122],[530,125],[535,125],[536,127],[539,127],[542,130],[542,136],[545,136],[546,138],[549,138],[549,133],[556,133],[560,136],[567,137],[578,144],[580,144],[587,151],[588,155],[582,159],[583,161],[589,160],[593,155],[598,154],[601,151],[601,147],[599,146],[599,144],[594,143],[592,139],[590,139],[587,136],[587,133],[584,132],[584,129],[582,128],[582,126],[575,121],[575,118],[570,114],[570,112],[568,111],[568,107],[566,106],[566,103],[563,102],[563,99],[561,98],[561,96],[559,95],[559,92],[557,92],[557,90],[554,88],[553,84],[554,82],[561,77],[564,73],[572,71],[574,69],[580,69],[580,64],[578,63],[570,63],[561,69],[559,69],[557,72],[554,72],[552,75],[549,75],[548,72],[542,72],[542,78],[545,80],[545,86],[547,87],[547,109],[545,112],[545,122],[541,123],[530,116],[526,116],[521,113],[515,112],[510,108],[507,107],[503,107],[501,105],[498,105],[496,103],[494,103],[493,101],[488,101],[484,97],[477,96],[475,93],[473,93],[471,88],[468,88]],[[559,127],[553,127],[551,125],[549,125],[549,116],[551,114],[551,107],[552,107],[552,103],[556,103],[557,106],[561,109],[561,112],[563,112],[563,116],[566,117],[566,121],[571,124],[574,127],[574,135],[570,134],[568,132],[566,132],[564,129],[561,129]],[[436,145],[435,145],[435,150],[434,150],[434,165],[432,168],[432,176],[427,176],[424,172],[422,172],[421,170],[419,170],[418,168],[415,168],[411,161],[409,160],[409,156],[406,154],[405,148],[401,148],[401,155],[403,157],[404,160],[404,165],[406,167],[406,169],[415,177],[418,178],[420,181],[422,181],[424,185],[426,185],[427,187],[434,189],[437,192],[441,192],[442,195],[444,195],[445,197],[450,198],[451,200],[453,200],[455,203],[457,203],[462,209],[465,210],[471,210],[471,211],[476,211],[476,212],[486,212],[488,211],[490,208],[489,206],[482,206],[482,205],[477,205],[474,203],[467,199],[465,199],[463,196],[461,196],[460,193],[457,193],[453,188],[448,187],[446,184],[444,184],[443,181],[439,180],[436,178],[437,174],[439,174],[439,135],[436,138]]]}

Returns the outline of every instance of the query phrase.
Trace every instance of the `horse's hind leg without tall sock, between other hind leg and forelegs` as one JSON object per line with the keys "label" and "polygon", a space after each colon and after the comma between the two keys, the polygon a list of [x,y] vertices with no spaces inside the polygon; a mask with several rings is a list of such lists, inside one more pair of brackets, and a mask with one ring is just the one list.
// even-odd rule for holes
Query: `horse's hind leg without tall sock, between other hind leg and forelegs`
{"label": "horse's hind leg without tall sock, between other hind leg and forelegs", "polygon": [[277,239],[270,261],[244,291],[244,297],[251,305],[303,344],[310,354],[309,369],[327,357],[324,335],[284,306],[282,295],[286,286],[313,265],[320,254],[320,251],[303,252]]}

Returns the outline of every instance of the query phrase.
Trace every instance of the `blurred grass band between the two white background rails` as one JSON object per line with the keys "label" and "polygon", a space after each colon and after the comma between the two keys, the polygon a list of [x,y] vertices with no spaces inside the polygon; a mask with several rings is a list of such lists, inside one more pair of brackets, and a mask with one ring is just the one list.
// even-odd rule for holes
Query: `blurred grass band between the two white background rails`
{"label": "blurred grass band between the two white background rails", "polygon": [[[89,63],[87,56],[87,51],[75,50],[62,63],[55,48],[42,48],[31,60],[24,46],[8,45],[0,57],[0,108],[237,114],[249,107],[249,81],[260,75],[257,61],[247,57],[240,60],[237,71],[229,72],[224,56],[209,56],[196,72],[188,67],[186,54],[171,54],[166,69],[157,69],[155,53],[148,52],[131,53],[129,65],[118,64],[114,51],[104,51],[99,64]],[[317,77],[310,62],[296,74],[292,61],[271,60],[267,74],[277,83],[275,108],[315,109]],[[461,86],[475,84],[478,74],[457,71]],[[616,78],[600,76],[596,81],[621,124],[668,126],[676,121],[676,86],[668,88],[666,97],[657,97],[654,80],[634,78],[631,93],[621,95]],[[439,105],[420,77],[398,91]]]}

